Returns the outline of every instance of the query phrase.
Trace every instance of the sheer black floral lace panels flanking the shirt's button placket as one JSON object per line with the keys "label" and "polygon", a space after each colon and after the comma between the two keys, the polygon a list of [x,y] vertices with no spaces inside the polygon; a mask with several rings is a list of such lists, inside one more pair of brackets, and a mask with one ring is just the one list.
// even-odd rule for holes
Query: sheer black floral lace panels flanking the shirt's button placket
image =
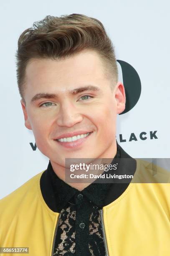
{"label": "sheer black floral lace panels flanking the shirt's button placket", "polygon": [[[79,254],[78,252],[76,253],[76,205],[69,203],[65,209],[61,210],[54,255],[103,256],[104,243],[101,231],[99,210],[99,207],[96,207],[95,205],[91,206],[88,241],[86,241],[86,236],[84,236],[84,233],[82,234],[82,236],[84,236],[85,243],[88,242],[87,250],[83,248],[83,254]],[[77,241],[77,243],[79,243],[79,241]]]}

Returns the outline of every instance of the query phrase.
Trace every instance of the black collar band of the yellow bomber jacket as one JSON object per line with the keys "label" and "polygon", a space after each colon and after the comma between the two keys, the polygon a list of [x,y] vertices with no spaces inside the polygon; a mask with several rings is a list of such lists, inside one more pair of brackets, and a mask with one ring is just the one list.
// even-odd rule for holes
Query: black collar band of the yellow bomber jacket
{"label": "black collar band of the yellow bomber jacket", "polygon": [[[119,158],[117,159],[116,157],[113,159],[112,164],[115,160],[118,160],[118,165],[119,168],[117,169],[117,171],[119,172],[119,174],[134,174],[135,170],[136,170],[136,161],[129,156],[123,149],[121,146],[119,146],[119,144],[117,143],[117,154],[119,152]],[[128,162],[126,161],[126,159],[128,159]],[[128,164],[127,164],[128,163]],[[66,189],[68,189],[68,193],[59,193],[59,197],[58,195],[56,195],[56,187],[55,187],[55,183],[53,181],[52,178],[52,174],[53,173],[53,169],[51,166],[51,163],[49,162],[48,164],[48,168],[46,171],[43,172],[43,174],[41,175],[41,179],[40,179],[40,187],[41,187],[41,193],[43,196],[44,201],[46,202],[46,204],[48,205],[48,207],[53,211],[53,212],[59,212],[61,210],[61,208],[66,204],[66,202],[68,202],[71,197],[73,197],[74,195],[78,194],[79,190],[74,189],[73,187],[70,187],[68,184]],[[55,173],[54,173],[55,174]],[[55,174],[56,175],[56,174]],[[59,178],[58,178],[59,179]],[[61,181],[61,180],[60,180]],[[131,180],[129,180],[130,182]],[[102,197],[98,197],[98,199],[96,199],[96,197],[93,197],[93,189],[95,189],[95,186],[93,186],[92,184],[89,185],[88,187],[86,187],[86,189],[84,189],[84,195],[86,195],[86,197],[90,198],[91,201],[94,201],[96,205],[98,206],[106,206],[108,204],[110,204],[111,202],[113,202],[114,200],[116,200],[120,195],[122,195],[122,193],[125,191],[125,189],[128,187],[129,182],[127,183],[111,183],[109,184],[109,190],[108,190],[108,184],[97,184],[95,183],[94,185],[96,186],[96,188],[101,187],[105,189],[105,191],[107,191],[106,195],[104,195],[104,198]],[[63,181],[58,182],[58,184],[60,184],[60,188],[59,189],[63,189]],[[80,193],[80,192],[79,192]],[[58,205],[60,205],[60,207],[58,207]]]}

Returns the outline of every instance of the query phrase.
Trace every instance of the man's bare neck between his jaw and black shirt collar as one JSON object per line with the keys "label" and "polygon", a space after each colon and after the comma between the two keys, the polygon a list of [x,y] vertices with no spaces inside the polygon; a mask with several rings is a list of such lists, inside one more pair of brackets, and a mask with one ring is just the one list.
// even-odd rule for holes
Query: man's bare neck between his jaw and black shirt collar
{"label": "man's bare neck between his jaw and black shirt collar", "polygon": [[[97,159],[109,159],[109,163],[111,163],[115,157],[117,153],[117,143],[116,140],[114,141],[114,143],[112,144],[112,147],[110,148],[109,151],[104,152],[101,156],[99,156]],[[109,164],[108,163],[108,164]],[[53,171],[56,173],[56,175],[62,179],[64,182],[66,182],[65,179],[65,175],[66,172],[69,170],[67,170],[65,168],[65,166],[61,166],[58,165],[56,162],[51,161],[51,165],[53,167]],[[99,170],[99,172],[97,174],[101,174],[103,173],[103,170]],[[92,182],[94,182],[95,179],[89,179],[89,183],[70,183],[70,182],[66,182],[67,184],[69,184],[71,187],[74,187],[76,189],[78,189],[79,191],[83,190],[85,187],[88,187]]]}

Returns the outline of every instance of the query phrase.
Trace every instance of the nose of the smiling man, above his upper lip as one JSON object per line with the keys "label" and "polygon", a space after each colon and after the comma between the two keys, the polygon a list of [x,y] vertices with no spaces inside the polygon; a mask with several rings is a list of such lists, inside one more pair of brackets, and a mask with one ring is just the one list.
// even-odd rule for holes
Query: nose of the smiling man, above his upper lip
{"label": "nose of the smiling man, above his upper lip", "polygon": [[59,126],[72,127],[76,123],[80,123],[82,120],[83,116],[79,113],[79,110],[73,103],[65,102],[61,105],[57,116],[57,124]]}

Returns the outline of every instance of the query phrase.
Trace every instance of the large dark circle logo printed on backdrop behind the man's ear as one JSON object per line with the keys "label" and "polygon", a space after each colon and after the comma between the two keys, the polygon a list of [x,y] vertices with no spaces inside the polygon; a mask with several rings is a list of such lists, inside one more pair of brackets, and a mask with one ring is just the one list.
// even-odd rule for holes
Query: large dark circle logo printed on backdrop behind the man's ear
{"label": "large dark circle logo printed on backdrop behind the man's ear", "polygon": [[125,110],[119,115],[127,113],[138,102],[141,94],[141,82],[137,71],[126,61],[117,59],[121,68],[123,76],[123,84],[126,94]]}

